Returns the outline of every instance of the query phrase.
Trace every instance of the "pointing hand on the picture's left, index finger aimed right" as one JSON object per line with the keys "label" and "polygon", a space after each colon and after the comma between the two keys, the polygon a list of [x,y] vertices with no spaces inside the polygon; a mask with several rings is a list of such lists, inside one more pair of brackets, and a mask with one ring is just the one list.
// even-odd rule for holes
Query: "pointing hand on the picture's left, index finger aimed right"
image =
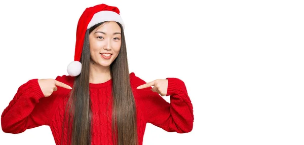
{"label": "pointing hand on the picture's left, index finger aimed right", "polygon": [[70,86],[59,82],[54,79],[40,79],[38,80],[38,84],[44,94],[45,97],[50,96],[54,91],[57,91],[57,86],[63,87],[66,89],[72,89]]}

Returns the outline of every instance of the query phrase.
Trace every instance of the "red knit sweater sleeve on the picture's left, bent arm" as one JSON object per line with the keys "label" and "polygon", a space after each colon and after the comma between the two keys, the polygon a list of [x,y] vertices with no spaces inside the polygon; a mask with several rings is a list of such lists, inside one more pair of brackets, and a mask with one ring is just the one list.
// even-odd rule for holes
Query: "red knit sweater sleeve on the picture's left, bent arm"
{"label": "red knit sweater sleeve on the picture's left, bent arm", "polygon": [[2,130],[6,133],[21,133],[26,129],[48,125],[54,93],[45,97],[38,83],[32,79],[21,85],[1,115]]}

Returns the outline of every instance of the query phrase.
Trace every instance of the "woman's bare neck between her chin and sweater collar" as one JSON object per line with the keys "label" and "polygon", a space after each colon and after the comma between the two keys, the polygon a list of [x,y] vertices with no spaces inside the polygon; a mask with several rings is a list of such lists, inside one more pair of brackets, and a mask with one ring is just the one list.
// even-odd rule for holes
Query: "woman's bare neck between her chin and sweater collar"
{"label": "woman's bare neck between her chin and sweater collar", "polygon": [[110,66],[102,66],[92,61],[90,62],[90,83],[99,84],[104,83],[110,79]]}

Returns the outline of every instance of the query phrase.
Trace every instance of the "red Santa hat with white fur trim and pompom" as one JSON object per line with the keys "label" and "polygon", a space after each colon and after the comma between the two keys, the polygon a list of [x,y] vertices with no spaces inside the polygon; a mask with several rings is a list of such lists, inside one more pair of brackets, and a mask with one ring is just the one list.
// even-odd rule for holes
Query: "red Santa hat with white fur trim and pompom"
{"label": "red Santa hat with white fur trim and pompom", "polygon": [[81,73],[82,64],[80,57],[87,29],[104,21],[116,21],[122,24],[123,29],[125,28],[117,7],[100,4],[87,8],[81,15],[77,25],[74,61],[67,66],[67,73],[70,76],[78,76]]}

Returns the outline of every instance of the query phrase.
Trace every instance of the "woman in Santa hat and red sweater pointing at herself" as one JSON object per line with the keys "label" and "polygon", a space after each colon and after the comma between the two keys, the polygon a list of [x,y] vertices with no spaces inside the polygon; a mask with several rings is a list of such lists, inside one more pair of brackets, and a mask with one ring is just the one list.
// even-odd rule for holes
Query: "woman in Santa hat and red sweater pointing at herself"
{"label": "woman in Santa hat and red sweater pointing at herself", "polygon": [[69,76],[21,85],[1,116],[4,132],[48,125],[56,144],[142,144],[146,123],[192,130],[193,106],[181,80],[146,83],[129,73],[119,13],[104,4],[84,11]]}

